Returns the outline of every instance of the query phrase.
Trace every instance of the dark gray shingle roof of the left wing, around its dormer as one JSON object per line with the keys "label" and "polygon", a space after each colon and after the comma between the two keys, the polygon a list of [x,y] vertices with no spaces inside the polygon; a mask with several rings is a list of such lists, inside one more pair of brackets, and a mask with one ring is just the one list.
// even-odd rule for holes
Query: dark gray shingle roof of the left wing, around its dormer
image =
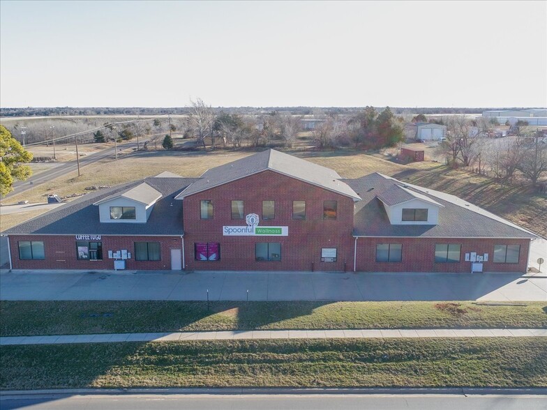
{"label": "dark gray shingle roof of the left wing, around its dormer", "polygon": [[[182,201],[176,197],[195,178],[147,178],[89,193],[63,204],[43,215],[7,229],[4,234],[44,234],[44,235],[181,235],[183,234]],[[147,223],[105,223],[99,221],[99,208],[94,203],[119,195],[147,183],[162,197],[154,205]]]}

